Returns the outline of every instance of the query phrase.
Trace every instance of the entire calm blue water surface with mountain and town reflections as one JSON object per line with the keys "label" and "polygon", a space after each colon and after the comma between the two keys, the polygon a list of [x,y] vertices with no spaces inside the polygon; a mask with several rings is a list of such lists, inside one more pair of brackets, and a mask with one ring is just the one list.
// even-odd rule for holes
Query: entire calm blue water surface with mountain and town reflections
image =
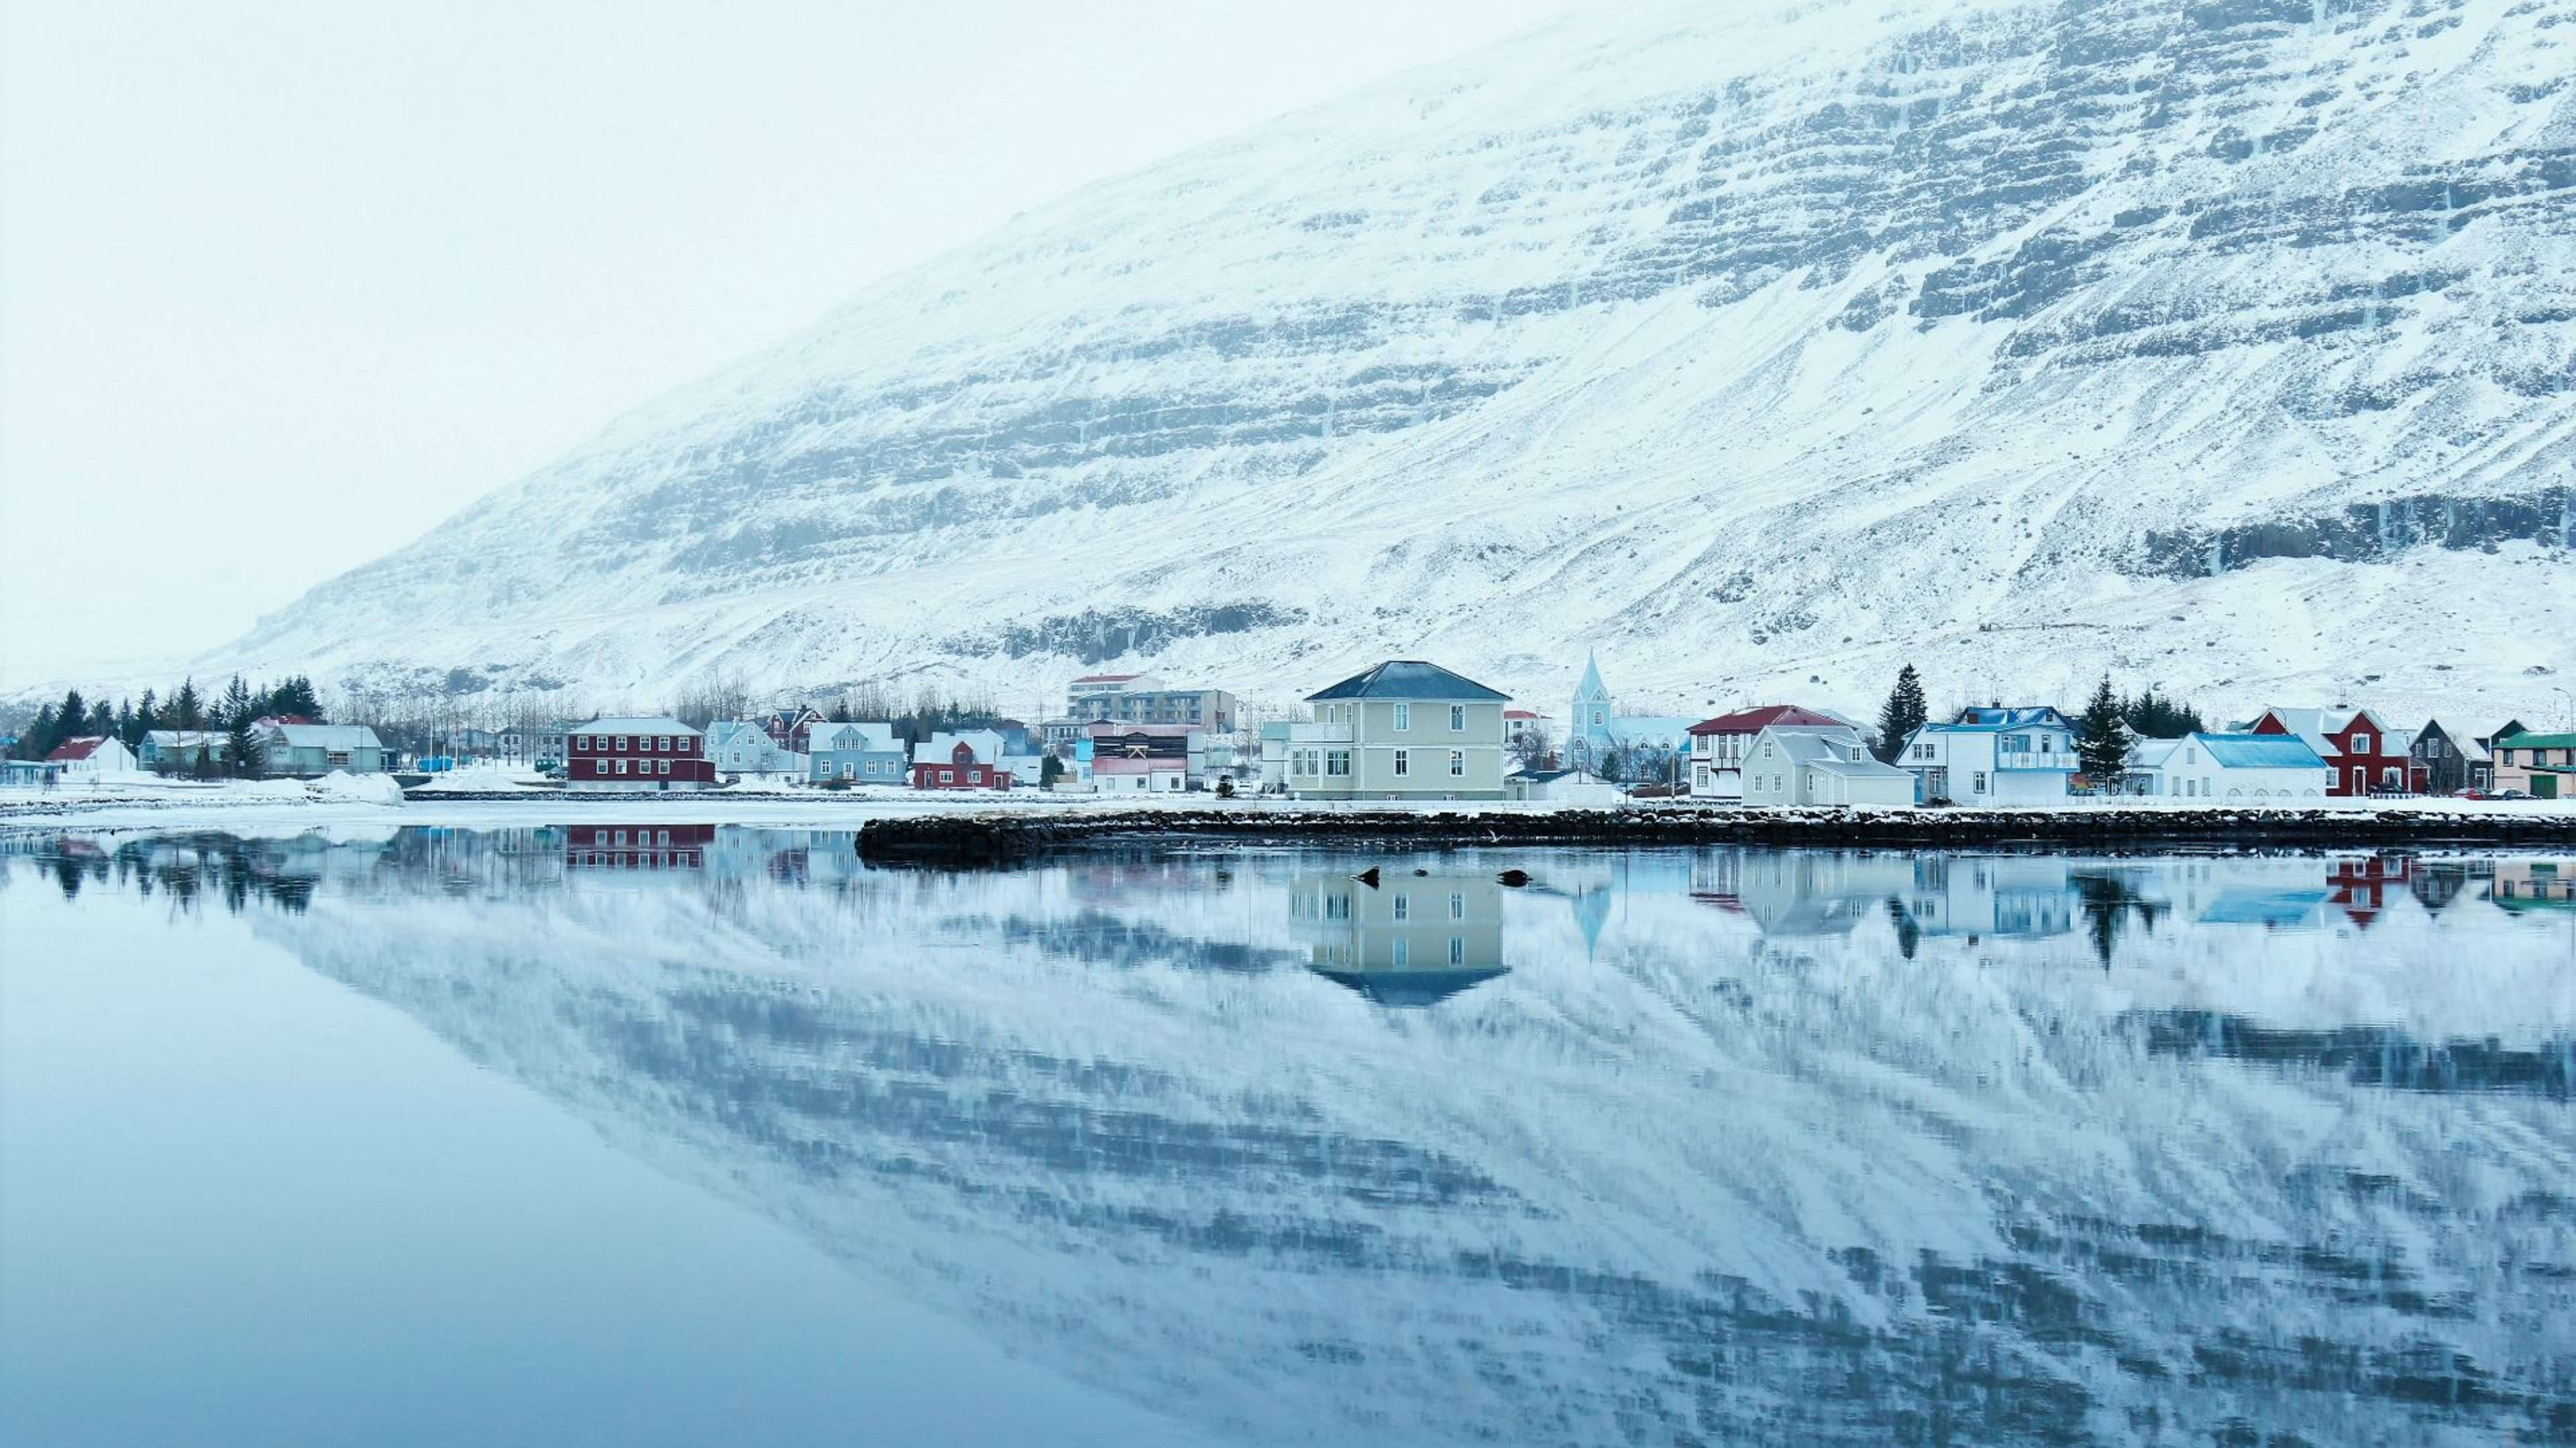
{"label": "entire calm blue water surface with mountain and town reflections", "polygon": [[5,850],[8,1443],[2576,1443],[2576,861]]}

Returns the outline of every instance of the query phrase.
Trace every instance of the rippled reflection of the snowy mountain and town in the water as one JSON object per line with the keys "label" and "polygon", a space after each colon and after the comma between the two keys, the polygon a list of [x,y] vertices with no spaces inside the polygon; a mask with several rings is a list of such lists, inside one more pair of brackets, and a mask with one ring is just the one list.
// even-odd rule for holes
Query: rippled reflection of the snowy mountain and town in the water
{"label": "rippled reflection of the snowy mountain and town in the water", "polygon": [[2568,861],[8,850],[1224,1438],[2576,1443]]}

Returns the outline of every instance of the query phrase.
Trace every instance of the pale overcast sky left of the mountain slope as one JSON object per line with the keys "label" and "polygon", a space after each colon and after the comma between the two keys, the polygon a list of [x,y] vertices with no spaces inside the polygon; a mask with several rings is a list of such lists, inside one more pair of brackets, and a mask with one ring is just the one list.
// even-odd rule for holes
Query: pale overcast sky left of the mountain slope
{"label": "pale overcast sky left of the mountain slope", "polygon": [[1097,175],[1571,0],[0,0],[0,688],[216,647]]}

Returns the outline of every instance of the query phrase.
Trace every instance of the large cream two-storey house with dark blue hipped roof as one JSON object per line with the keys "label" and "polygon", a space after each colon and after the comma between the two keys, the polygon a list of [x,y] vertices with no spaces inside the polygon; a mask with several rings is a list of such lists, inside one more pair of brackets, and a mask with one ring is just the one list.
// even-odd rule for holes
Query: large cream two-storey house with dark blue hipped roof
{"label": "large cream two-storey house with dark blue hipped roof", "polygon": [[1502,799],[1510,696],[1422,660],[1386,660],[1309,693],[1288,729],[1298,799]]}

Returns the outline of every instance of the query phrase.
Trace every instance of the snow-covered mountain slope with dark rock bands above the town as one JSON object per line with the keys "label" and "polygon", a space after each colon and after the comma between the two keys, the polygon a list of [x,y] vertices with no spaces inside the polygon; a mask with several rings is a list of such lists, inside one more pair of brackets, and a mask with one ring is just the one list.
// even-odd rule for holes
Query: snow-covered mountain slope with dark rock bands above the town
{"label": "snow-covered mountain slope with dark rock bands above the town", "polygon": [[[2576,0],[1618,8],[886,278],[211,654],[1680,709],[2576,672]],[[1643,701],[1641,698],[1641,701]]]}

